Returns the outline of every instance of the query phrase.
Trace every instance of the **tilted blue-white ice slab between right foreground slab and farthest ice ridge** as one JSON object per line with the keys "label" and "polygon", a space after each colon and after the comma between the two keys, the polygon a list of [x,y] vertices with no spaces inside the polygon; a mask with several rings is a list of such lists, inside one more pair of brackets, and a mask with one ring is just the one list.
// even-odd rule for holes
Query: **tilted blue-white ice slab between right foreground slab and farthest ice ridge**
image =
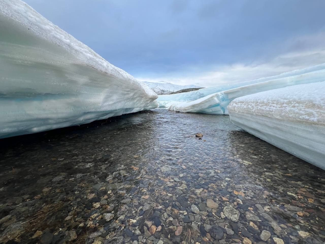
{"label": "tilted blue-white ice slab between right foreground slab and farthest ice ridge", "polygon": [[[318,65],[317,69],[322,67]],[[276,79],[269,79],[263,82],[258,82],[246,86],[241,86],[217,93],[213,93],[202,97],[200,99],[190,102],[170,102],[165,106],[168,106],[169,110],[180,111],[183,113],[206,113],[206,114],[228,114],[227,106],[235,98],[242,97],[249,94],[254,94],[261,91],[277,89],[282,87],[288,87],[299,84],[320,82],[325,80],[325,69],[316,70],[308,73],[303,73],[306,70],[310,71],[315,67],[304,69],[304,71],[294,71],[288,74],[299,74],[292,76],[283,76]],[[274,76],[273,76],[274,77]],[[263,78],[267,79],[267,78]]]}

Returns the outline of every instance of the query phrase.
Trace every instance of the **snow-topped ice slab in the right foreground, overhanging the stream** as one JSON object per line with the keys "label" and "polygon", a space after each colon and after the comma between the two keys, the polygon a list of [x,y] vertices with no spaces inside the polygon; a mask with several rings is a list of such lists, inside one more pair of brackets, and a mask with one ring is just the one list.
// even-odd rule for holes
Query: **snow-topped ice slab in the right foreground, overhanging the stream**
{"label": "snow-topped ice slab in the right foreground, overhanging the stream", "polygon": [[325,81],[236,98],[228,111],[238,127],[325,169]]}

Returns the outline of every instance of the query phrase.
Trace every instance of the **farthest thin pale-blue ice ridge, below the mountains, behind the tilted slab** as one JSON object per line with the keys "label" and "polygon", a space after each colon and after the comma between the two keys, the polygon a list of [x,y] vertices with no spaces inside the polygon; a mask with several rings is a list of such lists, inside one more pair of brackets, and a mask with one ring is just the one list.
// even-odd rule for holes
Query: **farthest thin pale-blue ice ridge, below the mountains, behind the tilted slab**
{"label": "farthest thin pale-blue ice ridge, below the mountains, behind the tilted slab", "polygon": [[202,88],[197,91],[183,92],[183,93],[177,93],[177,94],[171,94],[171,95],[159,95],[157,102],[159,103],[160,107],[169,107],[171,104],[176,104],[179,102],[194,101],[194,100],[203,98],[203,97],[208,96],[213,93],[226,91],[226,90],[237,88],[237,87],[243,87],[243,86],[247,86],[247,85],[251,85],[251,84],[255,84],[255,83],[259,83],[259,82],[275,80],[275,79],[294,76],[294,75],[302,75],[305,73],[323,70],[323,69],[325,69],[325,63],[315,65],[312,67],[307,67],[304,69],[285,72],[280,75],[263,77],[263,78],[258,78],[258,79],[254,79],[254,80],[250,80],[250,81],[237,82],[237,83],[232,83],[232,84],[223,84],[223,85],[219,85],[219,86],[215,86],[215,87]]}

